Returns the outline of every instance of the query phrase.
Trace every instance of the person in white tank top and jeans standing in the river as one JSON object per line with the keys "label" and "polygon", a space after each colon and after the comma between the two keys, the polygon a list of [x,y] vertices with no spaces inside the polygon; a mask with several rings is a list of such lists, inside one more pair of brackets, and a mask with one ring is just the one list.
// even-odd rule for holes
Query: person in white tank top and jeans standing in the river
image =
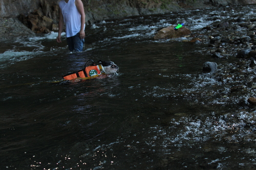
{"label": "person in white tank top and jeans standing in the river", "polygon": [[84,33],[86,14],[81,0],[61,0],[59,2],[59,31],[57,42],[61,41],[61,32],[66,25],[66,37],[71,52],[81,52],[86,34]]}

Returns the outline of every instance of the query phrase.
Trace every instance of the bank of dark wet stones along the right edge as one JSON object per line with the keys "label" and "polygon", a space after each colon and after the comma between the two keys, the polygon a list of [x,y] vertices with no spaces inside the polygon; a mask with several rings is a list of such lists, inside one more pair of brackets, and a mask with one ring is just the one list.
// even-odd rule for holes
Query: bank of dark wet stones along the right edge
{"label": "bank of dark wet stones along the right edge", "polygon": [[230,100],[230,103],[241,106],[256,104],[255,26],[255,18],[244,18],[241,15],[236,19],[230,17],[220,20],[217,17],[216,22],[191,34],[191,39],[197,38],[193,43],[208,45],[207,50],[203,52],[206,55],[219,60],[233,61],[227,65],[218,65],[215,72],[206,75],[217,80],[217,83],[209,82],[213,89],[218,89],[214,93],[206,93],[209,99],[216,95],[216,101],[219,103],[227,103],[227,100]]}

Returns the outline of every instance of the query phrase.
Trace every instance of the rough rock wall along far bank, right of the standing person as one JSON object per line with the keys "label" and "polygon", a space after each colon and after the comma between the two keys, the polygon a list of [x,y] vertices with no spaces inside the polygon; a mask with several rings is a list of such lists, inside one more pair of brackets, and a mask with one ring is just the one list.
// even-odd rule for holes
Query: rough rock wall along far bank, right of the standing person
{"label": "rough rock wall along far bank, right of the standing person", "polygon": [[82,0],[86,22],[218,6],[256,4],[256,0]]}

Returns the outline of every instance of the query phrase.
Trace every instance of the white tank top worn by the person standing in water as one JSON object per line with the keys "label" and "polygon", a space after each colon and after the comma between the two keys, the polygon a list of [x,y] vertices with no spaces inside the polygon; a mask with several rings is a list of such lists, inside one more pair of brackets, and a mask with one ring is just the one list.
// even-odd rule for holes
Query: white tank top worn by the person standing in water
{"label": "white tank top worn by the person standing in water", "polygon": [[59,8],[61,9],[63,20],[66,25],[66,36],[72,37],[80,32],[81,29],[81,15],[78,12],[76,0],[69,0],[68,3],[65,0],[59,2]]}

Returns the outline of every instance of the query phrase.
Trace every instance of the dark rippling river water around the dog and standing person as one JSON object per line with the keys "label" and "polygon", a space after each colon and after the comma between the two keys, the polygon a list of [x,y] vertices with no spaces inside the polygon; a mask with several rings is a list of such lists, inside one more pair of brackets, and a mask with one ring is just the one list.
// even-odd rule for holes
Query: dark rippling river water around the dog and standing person
{"label": "dark rippling river water around the dog and standing person", "polygon": [[[255,109],[202,74],[204,62],[236,57],[212,58],[207,43],[187,38],[153,37],[181,22],[204,34],[216,18],[251,18],[255,10],[100,21],[86,27],[82,53],[68,51],[65,34],[62,44],[56,33],[1,42],[0,169],[254,169]],[[115,62],[118,74],[61,81],[90,59]]]}

